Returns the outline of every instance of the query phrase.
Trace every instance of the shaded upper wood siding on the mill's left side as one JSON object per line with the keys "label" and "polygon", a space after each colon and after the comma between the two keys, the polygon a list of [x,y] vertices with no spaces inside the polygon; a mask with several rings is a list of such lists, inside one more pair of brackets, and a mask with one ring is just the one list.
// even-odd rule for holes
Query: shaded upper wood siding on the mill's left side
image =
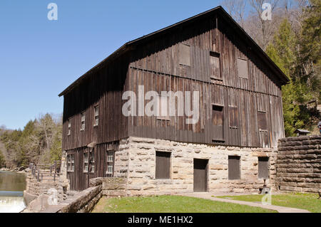
{"label": "shaded upper wood siding on the mill's left side", "polygon": [[[128,137],[126,117],[121,112],[126,89],[128,63],[121,58],[106,65],[64,95],[63,149],[113,142]],[[98,126],[93,126],[94,107],[98,105]],[[85,130],[81,131],[81,112],[86,112]],[[68,120],[71,133],[68,135]]]}

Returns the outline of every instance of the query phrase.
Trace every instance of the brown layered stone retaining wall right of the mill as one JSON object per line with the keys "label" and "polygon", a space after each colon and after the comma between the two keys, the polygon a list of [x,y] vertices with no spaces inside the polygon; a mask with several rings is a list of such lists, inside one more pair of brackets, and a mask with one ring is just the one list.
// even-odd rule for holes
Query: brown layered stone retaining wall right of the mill
{"label": "brown layered stone retaining wall right of the mill", "polygon": [[282,191],[321,189],[321,136],[287,137],[278,142],[277,181]]}

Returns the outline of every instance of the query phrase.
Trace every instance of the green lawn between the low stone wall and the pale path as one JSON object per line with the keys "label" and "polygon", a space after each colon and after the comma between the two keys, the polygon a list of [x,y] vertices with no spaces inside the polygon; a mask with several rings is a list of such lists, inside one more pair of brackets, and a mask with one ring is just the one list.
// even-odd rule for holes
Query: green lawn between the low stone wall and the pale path
{"label": "green lawn between the low stone wall and the pale path", "polygon": [[276,211],[187,196],[102,197],[93,213],[275,213]]}

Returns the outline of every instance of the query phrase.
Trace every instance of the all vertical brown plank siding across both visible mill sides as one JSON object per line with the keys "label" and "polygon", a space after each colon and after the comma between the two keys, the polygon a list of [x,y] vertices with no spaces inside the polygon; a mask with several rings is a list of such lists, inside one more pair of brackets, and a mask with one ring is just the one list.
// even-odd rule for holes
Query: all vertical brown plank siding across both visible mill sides
{"label": "all vertical brown plank siding across both visible mill sides", "polygon": [[[240,147],[276,147],[277,139],[284,137],[282,83],[272,73],[270,65],[259,58],[243,38],[233,31],[223,16],[211,14],[182,23],[153,38],[137,41],[121,56],[91,70],[91,75],[64,94],[63,149],[68,154],[74,153],[76,162],[75,171],[68,173],[68,178],[73,179],[72,188],[88,186],[88,174],[83,173],[82,165],[83,152],[89,149],[90,143],[96,144],[93,176],[106,173],[103,154],[106,148],[116,147],[120,139],[131,136]],[[188,54],[190,56],[186,56]],[[243,65],[239,70],[238,59],[243,59],[243,63],[246,61],[248,67]],[[246,74],[246,68],[248,75],[239,76],[239,71]],[[150,90],[158,93],[190,91],[191,94],[198,91],[199,121],[194,125],[186,124],[189,117],[177,115],[171,116],[170,120],[146,115],[125,117],[122,106],[127,100],[122,100],[122,95],[131,90],[138,98],[139,85],[144,85],[145,94]],[[149,101],[145,100],[144,104]],[[175,100],[176,111],[177,103]],[[94,127],[96,105],[99,123]],[[213,127],[216,121],[213,105],[223,107],[220,127]],[[81,131],[83,111],[86,120],[85,130]],[[265,113],[264,120],[258,112]]]}

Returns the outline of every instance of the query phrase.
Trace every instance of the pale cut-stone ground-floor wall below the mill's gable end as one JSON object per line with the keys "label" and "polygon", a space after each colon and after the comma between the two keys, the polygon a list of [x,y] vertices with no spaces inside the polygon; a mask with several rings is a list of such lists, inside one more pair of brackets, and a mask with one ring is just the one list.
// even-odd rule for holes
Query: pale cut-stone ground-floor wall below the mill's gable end
{"label": "pale cut-stone ground-floor wall below the mill's gable end", "polygon": [[[209,159],[208,191],[258,192],[263,187],[263,179],[258,179],[258,157],[270,157],[267,186],[275,189],[275,149],[211,146],[141,137],[129,137],[120,147],[128,158],[128,196],[193,192],[193,159]],[[156,151],[171,152],[170,179],[156,179]],[[228,179],[229,155],[240,156],[241,179]]]}

